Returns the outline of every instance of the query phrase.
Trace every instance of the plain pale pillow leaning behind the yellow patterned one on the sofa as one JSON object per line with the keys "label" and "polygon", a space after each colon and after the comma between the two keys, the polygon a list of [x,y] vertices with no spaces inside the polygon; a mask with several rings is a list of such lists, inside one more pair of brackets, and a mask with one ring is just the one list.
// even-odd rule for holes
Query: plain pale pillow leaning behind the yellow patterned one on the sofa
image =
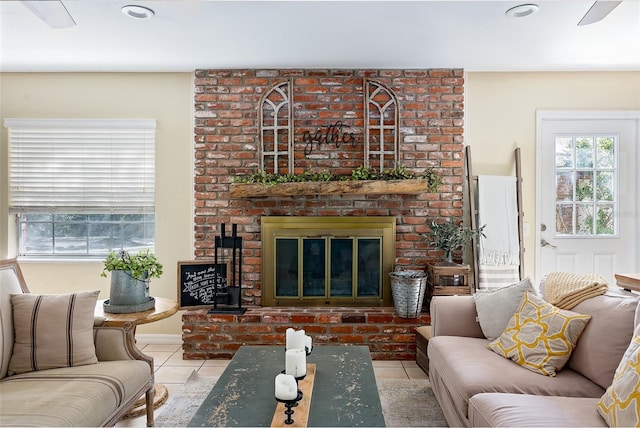
{"label": "plain pale pillow leaning behind the yellow patterned one on the sofa", "polygon": [[494,340],[502,334],[518,309],[525,291],[535,292],[529,278],[504,288],[476,291],[473,298],[478,322],[487,339]]}

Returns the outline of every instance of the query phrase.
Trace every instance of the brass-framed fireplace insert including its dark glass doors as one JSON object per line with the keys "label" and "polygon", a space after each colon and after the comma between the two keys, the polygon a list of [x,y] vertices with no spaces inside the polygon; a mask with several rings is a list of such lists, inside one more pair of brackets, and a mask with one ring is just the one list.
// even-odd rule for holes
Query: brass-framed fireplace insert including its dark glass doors
{"label": "brass-framed fireplace insert including its dark glass doors", "polygon": [[388,306],[395,217],[266,216],[262,306]]}

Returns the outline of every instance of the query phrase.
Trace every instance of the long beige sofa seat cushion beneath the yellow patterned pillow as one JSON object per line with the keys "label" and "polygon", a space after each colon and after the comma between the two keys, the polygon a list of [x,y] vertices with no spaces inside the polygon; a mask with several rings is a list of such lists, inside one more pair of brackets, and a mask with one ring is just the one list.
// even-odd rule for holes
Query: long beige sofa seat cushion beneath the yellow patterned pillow
{"label": "long beige sofa seat cushion beneath the yellow patterned pillow", "polygon": [[[568,368],[540,376],[487,349],[486,339],[435,336],[429,340],[429,381],[447,421],[467,426],[469,399],[481,392],[592,397],[604,388]],[[595,404],[594,404],[595,405]]]}

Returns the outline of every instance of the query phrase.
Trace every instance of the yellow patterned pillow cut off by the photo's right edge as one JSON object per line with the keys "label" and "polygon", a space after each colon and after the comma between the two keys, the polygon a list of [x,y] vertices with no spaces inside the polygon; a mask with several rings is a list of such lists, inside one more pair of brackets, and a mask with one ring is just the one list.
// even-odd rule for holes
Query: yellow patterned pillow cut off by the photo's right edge
{"label": "yellow patterned pillow cut off by the photo's right edge", "polygon": [[598,402],[610,427],[640,426],[640,325],[624,352],[613,382]]}

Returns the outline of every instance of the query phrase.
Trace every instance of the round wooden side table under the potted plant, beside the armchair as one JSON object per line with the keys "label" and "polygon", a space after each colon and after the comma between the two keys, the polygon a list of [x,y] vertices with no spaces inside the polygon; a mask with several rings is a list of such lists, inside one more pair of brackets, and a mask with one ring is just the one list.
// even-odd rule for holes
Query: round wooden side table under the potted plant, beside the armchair
{"label": "round wooden side table under the potted plant, beside the armchair", "polygon": [[[104,300],[98,300],[96,303],[96,309],[94,315],[97,317],[104,317],[106,322],[109,321],[129,321],[136,322],[136,324],[148,324],[154,321],[160,321],[168,318],[171,315],[178,312],[178,302],[171,299],[165,299],[163,297],[155,297],[156,304],[153,309],[143,312],[132,312],[129,314],[112,314],[105,312],[103,308]],[[162,406],[167,398],[169,398],[169,391],[167,387],[160,384],[154,384],[154,398],[153,408],[157,409]],[[127,412],[123,418],[135,418],[145,413],[145,400],[142,397],[134,404],[134,406]]]}

